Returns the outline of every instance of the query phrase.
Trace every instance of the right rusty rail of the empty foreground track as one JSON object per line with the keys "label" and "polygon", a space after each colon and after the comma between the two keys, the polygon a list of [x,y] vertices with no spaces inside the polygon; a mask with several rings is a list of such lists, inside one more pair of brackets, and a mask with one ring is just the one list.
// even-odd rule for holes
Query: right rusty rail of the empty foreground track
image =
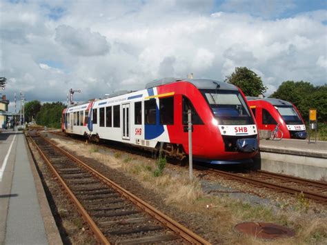
{"label": "right rusty rail of the empty foreground track", "polygon": [[68,151],[63,150],[62,148],[60,148],[56,144],[52,143],[52,141],[50,141],[49,139],[46,139],[44,137],[42,137],[42,138],[45,139],[46,141],[48,141],[48,143],[51,144],[52,146],[54,146],[54,148],[60,150],[61,153],[63,153],[67,157],[70,157],[70,159],[72,159],[73,161],[76,161],[77,164],[80,164],[81,166],[86,168],[88,171],[90,171],[90,173],[92,173],[92,175],[95,175],[96,177],[101,179],[104,183],[108,184],[108,186],[110,186],[111,188],[114,188],[115,190],[117,190],[117,192],[121,193],[121,195],[123,195],[123,197],[126,197],[126,199],[129,199],[132,203],[137,205],[142,210],[146,211],[146,213],[150,214],[152,217],[155,217],[155,219],[159,220],[161,223],[166,225],[168,228],[170,228],[170,230],[174,231],[175,233],[177,233],[178,235],[180,235],[181,237],[186,239],[188,242],[190,242],[192,244],[210,244],[210,242],[206,241],[205,239],[203,239],[199,235],[193,233],[192,231],[190,231],[185,226],[182,226],[181,224],[179,224],[175,220],[171,219],[167,215],[164,215],[164,213],[161,213],[159,210],[152,207],[150,204],[147,204],[142,199],[139,199],[139,197],[133,195],[128,190],[122,188],[121,186],[119,186],[115,182],[112,182],[110,179],[108,179],[107,177],[105,177],[101,173],[97,172],[97,170],[94,170],[93,168],[91,168],[87,164],[84,164],[83,161],[81,161],[77,157],[71,155],[70,153],[68,153]]}

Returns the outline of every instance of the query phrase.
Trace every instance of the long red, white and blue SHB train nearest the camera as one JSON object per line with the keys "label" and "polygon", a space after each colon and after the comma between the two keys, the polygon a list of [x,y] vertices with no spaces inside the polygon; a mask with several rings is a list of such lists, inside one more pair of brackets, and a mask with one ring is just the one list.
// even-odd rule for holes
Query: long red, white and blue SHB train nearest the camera
{"label": "long red, white and blue SHB train nearest the camera", "polygon": [[258,132],[243,92],[210,79],[164,78],[145,90],[116,92],[63,110],[62,130],[132,144],[183,159],[192,110],[193,159],[212,164],[251,161]]}

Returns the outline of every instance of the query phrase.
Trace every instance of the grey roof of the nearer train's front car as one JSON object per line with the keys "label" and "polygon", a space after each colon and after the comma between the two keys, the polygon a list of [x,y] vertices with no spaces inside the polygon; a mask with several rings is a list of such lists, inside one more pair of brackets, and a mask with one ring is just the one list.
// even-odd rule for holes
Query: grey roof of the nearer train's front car
{"label": "grey roof of the nearer train's front car", "polygon": [[172,84],[177,81],[188,81],[190,84],[193,84],[199,89],[216,89],[218,84],[220,86],[219,89],[222,90],[238,90],[237,86],[228,84],[224,81],[217,81],[213,79],[182,79],[176,77],[165,77],[163,79],[152,81],[146,84],[146,89],[154,88],[165,84]]}

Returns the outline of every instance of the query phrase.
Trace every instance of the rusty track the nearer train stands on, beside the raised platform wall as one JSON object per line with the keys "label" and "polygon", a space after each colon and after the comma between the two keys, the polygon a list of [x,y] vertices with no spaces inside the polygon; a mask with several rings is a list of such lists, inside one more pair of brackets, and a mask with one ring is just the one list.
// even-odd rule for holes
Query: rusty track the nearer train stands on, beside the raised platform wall
{"label": "rusty track the nearer train stands on, beside the raised platform wall", "polygon": [[[54,133],[61,135],[61,133]],[[264,170],[257,170],[250,174],[230,173],[228,171],[215,170],[205,168],[208,172],[218,174],[227,179],[234,179],[239,182],[246,182],[258,187],[270,188],[278,193],[288,193],[291,195],[299,195],[303,193],[304,197],[313,199],[320,204],[327,204],[327,183],[317,182],[310,179],[301,179],[290,175],[281,175],[278,173],[270,173]]]}

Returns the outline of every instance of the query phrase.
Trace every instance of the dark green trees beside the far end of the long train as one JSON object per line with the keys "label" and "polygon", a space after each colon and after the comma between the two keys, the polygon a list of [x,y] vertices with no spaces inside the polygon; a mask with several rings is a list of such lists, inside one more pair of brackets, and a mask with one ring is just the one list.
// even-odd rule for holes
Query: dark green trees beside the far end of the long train
{"label": "dark green trees beside the far end of the long train", "polygon": [[60,128],[61,113],[66,108],[61,102],[45,103],[37,113],[37,124],[50,128]]}

